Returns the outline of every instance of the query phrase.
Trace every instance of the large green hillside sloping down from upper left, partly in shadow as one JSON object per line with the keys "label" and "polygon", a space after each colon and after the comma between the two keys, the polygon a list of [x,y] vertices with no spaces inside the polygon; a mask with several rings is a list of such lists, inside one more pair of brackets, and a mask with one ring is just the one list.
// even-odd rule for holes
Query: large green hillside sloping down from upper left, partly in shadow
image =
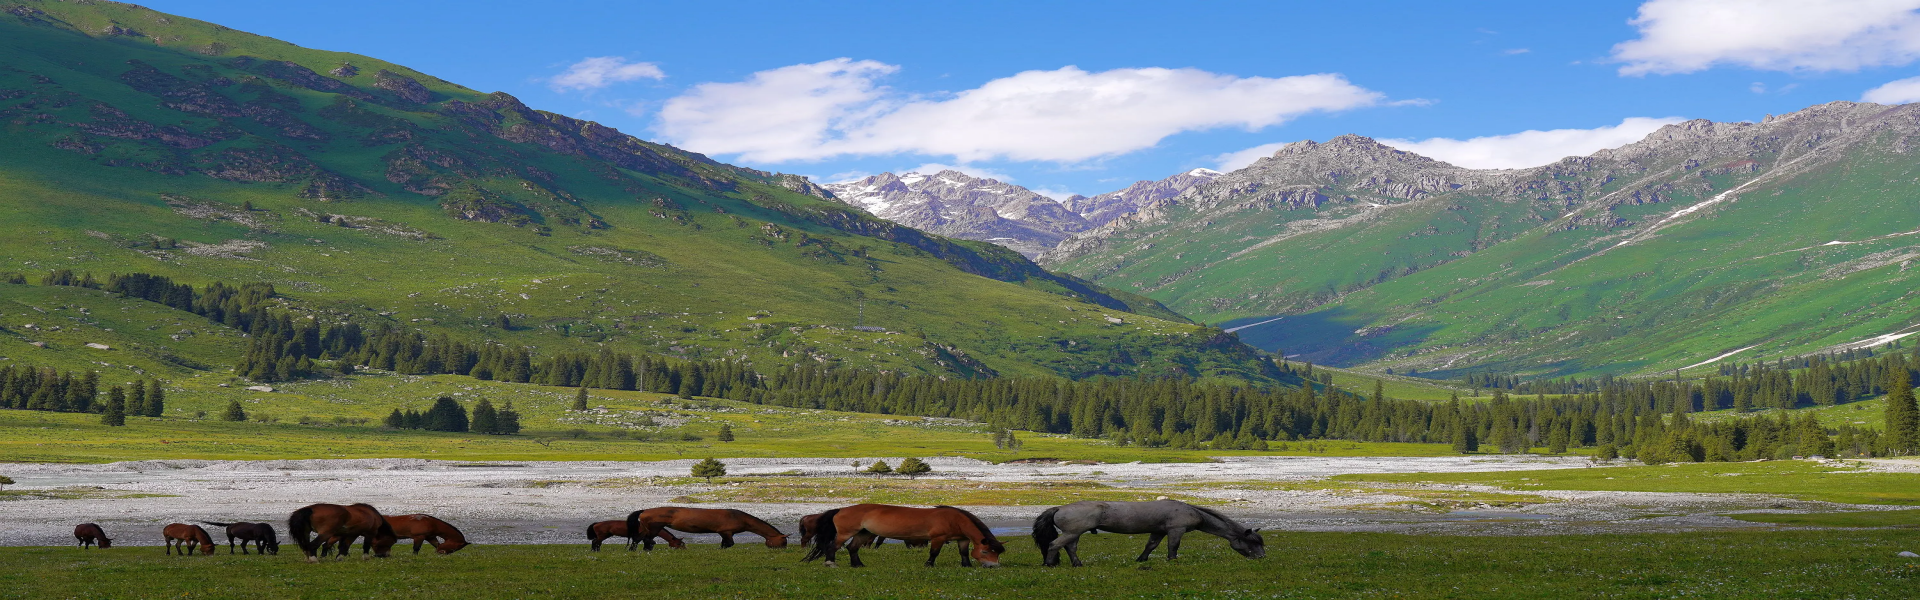
{"label": "large green hillside sloping down from upper left, partly in shadow", "polygon": [[[271,283],[294,315],[541,354],[958,377],[1273,371],[1152,300],[876,219],[804,177],[131,4],[0,8],[0,271],[19,275],[0,281]],[[19,313],[60,310],[46,294],[0,283]],[[98,363],[29,344],[36,331],[0,329],[0,350]],[[131,340],[173,356],[186,335]]]}

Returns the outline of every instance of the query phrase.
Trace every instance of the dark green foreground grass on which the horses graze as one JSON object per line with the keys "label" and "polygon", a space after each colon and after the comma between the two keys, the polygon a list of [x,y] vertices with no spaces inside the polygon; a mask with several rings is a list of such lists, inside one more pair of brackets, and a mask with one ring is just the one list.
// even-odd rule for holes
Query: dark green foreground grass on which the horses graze
{"label": "dark green foreground grass on which the horses graze", "polygon": [[169,558],[161,548],[0,548],[4,598],[1907,598],[1920,588],[1910,531],[1407,537],[1267,533],[1246,560],[1188,537],[1179,562],[1135,563],[1144,537],[1083,538],[1087,567],[1039,567],[1023,537],[1000,569],[939,565],[900,546],[868,569],[801,563],[804,550],[588,552],[486,546],[453,556],[301,563],[280,556]]}

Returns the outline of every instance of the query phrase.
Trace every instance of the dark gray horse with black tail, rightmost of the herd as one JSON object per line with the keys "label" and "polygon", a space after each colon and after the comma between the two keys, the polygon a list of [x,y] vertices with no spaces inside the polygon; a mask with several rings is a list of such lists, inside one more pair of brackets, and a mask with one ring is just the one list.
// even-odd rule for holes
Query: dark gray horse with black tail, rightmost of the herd
{"label": "dark gray horse with black tail, rightmost of the herd", "polygon": [[[1060,531],[1054,531],[1056,527]],[[1073,565],[1079,567],[1083,565],[1079,562],[1079,537],[1083,533],[1148,533],[1152,537],[1146,538],[1146,550],[1137,560],[1144,562],[1154,554],[1160,538],[1167,538],[1167,560],[1175,560],[1181,554],[1181,535],[1196,529],[1227,538],[1227,544],[1233,544],[1233,552],[1240,552],[1240,556],[1267,556],[1267,542],[1260,538],[1258,529],[1240,527],[1240,523],[1217,512],[1179,500],[1085,500],[1054,506],[1033,519],[1033,542],[1041,546],[1044,565],[1060,565],[1060,548],[1066,548],[1068,556],[1073,558]]]}

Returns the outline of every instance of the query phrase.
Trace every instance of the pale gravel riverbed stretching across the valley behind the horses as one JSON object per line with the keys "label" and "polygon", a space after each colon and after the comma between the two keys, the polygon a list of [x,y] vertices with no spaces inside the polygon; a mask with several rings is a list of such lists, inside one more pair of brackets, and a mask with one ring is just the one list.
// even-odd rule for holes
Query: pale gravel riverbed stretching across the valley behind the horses
{"label": "pale gravel riverbed stretching across the valley behind the horses", "polygon": [[[854,477],[854,463],[881,458],[733,458],[730,475]],[[899,463],[899,458],[887,458]],[[430,460],[159,460],[100,465],[12,463],[10,490],[50,490],[81,498],[0,502],[0,544],[71,544],[73,525],[100,523],[115,544],[159,544],[159,527],[175,521],[267,521],[284,531],[286,515],[315,502],[367,502],[384,513],[432,513],[486,544],[586,542],[586,525],[628,512],[674,504],[714,485],[684,483],[693,460],[670,462],[430,462]],[[931,458],[935,479],[979,483],[1098,481],[1114,487],[1164,487],[1217,498],[1217,508],[1250,527],[1283,531],[1396,531],[1467,535],[1551,535],[1609,531],[1686,531],[1768,527],[1724,517],[1740,510],[1832,510],[1824,502],[1753,494],[1526,492],[1555,502],[1461,506],[1450,512],[1405,510],[1417,498],[1392,490],[1263,490],[1235,487],[1258,481],[1315,481],[1344,473],[1459,473],[1582,469],[1584,458],[1444,456],[1444,458],[1219,458],[1212,463],[987,463]],[[1887,469],[1907,469],[1893,463]],[[649,477],[674,477],[651,485]],[[624,485],[603,485],[622,481]],[[1492,490],[1480,487],[1434,487]],[[1173,492],[1173,490],[1169,490]],[[753,512],[783,531],[804,515],[841,504],[710,502],[701,506]],[[996,531],[1023,535],[1041,506],[970,508]],[[282,533],[284,535],[284,533]],[[215,540],[223,535],[215,531]],[[743,537],[751,538],[751,537]],[[710,537],[693,537],[710,542]]]}

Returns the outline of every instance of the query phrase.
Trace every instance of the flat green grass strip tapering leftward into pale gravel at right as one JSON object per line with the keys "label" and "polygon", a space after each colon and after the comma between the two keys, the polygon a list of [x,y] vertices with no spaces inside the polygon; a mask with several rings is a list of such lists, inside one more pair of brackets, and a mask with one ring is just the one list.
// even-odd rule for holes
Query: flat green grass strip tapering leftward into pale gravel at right
{"label": "flat green grass strip tapering leftward into pale gravel at right", "polygon": [[1509,490],[1768,494],[1847,504],[1920,504],[1920,475],[1868,473],[1847,463],[1668,463],[1507,473],[1338,475],[1346,483],[1452,483]]}

